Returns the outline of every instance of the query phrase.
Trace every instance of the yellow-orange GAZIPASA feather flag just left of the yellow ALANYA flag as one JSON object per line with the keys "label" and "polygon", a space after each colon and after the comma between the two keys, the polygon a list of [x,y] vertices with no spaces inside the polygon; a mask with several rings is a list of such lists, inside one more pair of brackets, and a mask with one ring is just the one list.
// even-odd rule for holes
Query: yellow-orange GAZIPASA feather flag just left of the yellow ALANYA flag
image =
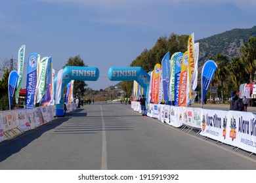
{"label": "yellow-orange GAZIPASA feather flag just left of the yellow ALANYA flag", "polygon": [[182,63],[181,63],[179,106],[183,106],[183,107],[186,107],[187,82],[188,82],[188,51],[186,51],[183,54]]}

